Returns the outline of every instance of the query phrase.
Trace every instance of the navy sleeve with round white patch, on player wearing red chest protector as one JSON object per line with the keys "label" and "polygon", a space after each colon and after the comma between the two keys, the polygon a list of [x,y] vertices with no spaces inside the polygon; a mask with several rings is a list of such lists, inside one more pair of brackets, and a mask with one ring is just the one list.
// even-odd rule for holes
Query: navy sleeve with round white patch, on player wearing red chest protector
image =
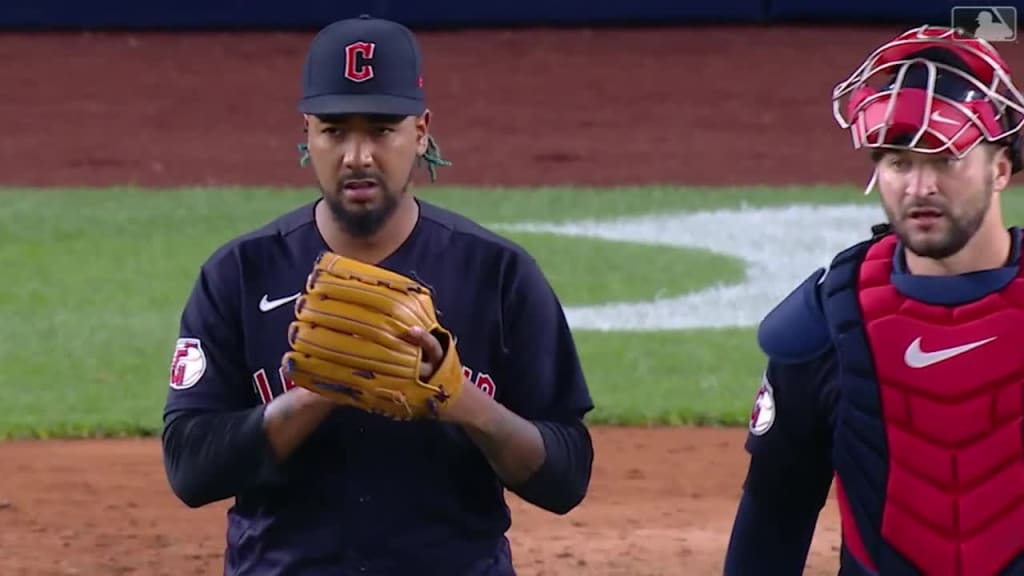
{"label": "navy sleeve with round white patch, on player wearing red chest protector", "polygon": [[769,361],[751,411],[745,488],[827,491],[831,479],[831,399],[836,358],[802,363]]}

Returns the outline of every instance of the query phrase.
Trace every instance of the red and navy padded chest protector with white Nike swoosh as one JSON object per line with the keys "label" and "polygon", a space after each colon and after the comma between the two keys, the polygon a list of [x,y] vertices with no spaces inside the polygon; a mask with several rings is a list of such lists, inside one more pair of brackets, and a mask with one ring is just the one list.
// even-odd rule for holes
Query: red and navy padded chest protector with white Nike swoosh
{"label": "red and navy padded chest protector with white Nike swoosh", "polygon": [[841,254],[821,286],[841,574],[1024,575],[1024,274],[927,304],[892,285],[896,244]]}

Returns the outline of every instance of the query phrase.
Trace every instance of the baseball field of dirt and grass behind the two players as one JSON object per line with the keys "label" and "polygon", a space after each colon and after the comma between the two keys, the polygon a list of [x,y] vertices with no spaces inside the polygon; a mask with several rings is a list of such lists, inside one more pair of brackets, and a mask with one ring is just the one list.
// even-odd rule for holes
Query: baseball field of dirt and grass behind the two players
{"label": "baseball field of dirt and grass behind the two players", "polygon": [[[754,327],[883,217],[830,89],[899,30],[421,36],[454,166],[418,194],[536,255],[597,404],[584,504],[509,496],[521,575],[720,573]],[[188,509],[164,477],[167,369],[210,251],[316,196],[309,38],[0,35],[0,574],[218,573],[229,502]],[[808,575],[838,542],[830,501]]]}

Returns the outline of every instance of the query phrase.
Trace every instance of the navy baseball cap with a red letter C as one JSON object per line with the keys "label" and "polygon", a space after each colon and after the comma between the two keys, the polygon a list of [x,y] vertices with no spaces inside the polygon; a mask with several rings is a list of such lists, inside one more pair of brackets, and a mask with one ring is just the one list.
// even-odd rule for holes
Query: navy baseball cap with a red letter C
{"label": "navy baseball cap with a red letter C", "polygon": [[420,46],[404,26],[361,15],[319,31],[306,54],[299,111],[336,114],[423,114]]}

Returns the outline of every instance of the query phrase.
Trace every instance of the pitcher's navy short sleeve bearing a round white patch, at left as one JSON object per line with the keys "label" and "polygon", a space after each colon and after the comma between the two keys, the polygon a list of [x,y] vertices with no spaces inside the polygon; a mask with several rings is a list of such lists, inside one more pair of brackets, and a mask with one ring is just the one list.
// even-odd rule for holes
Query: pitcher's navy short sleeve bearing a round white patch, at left
{"label": "pitcher's navy short sleeve bearing a round white patch, at left", "polygon": [[211,258],[201,268],[180,317],[165,417],[180,410],[230,411],[255,405],[245,370],[238,278],[229,257]]}

